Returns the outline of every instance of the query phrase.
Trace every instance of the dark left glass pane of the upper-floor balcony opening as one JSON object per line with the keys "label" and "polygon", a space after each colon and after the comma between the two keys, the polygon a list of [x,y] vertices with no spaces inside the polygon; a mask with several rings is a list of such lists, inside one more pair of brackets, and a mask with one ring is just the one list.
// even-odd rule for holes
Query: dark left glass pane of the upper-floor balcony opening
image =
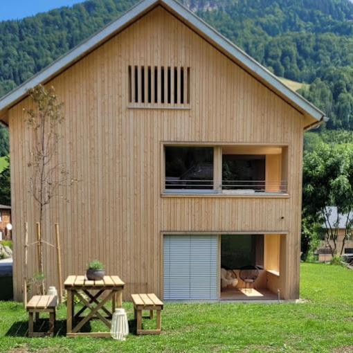
{"label": "dark left glass pane of the upper-floor balcony opening", "polygon": [[213,189],[213,147],[165,147],[166,189]]}

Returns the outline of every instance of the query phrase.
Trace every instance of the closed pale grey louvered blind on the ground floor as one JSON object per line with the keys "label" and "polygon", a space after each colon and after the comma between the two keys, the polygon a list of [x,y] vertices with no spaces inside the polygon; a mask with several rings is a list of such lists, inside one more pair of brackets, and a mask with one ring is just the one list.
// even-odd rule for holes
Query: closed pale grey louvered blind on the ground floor
{"label": "closed pale grey louvered blind on the ground floor", "polygon": [[164,299],[217,299],[217,235],[164,237]]}

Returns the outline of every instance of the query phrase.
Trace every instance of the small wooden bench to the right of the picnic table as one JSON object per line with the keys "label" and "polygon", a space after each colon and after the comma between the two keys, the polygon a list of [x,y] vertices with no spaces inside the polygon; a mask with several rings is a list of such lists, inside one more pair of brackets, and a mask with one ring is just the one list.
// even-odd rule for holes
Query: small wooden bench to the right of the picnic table
{"label": "small wooden bench to the right of the picnic table", "polygon": [[[163,302],[155,294],[132,294],[134,303],[134,317],[136,320],[137,334],[160,334],[161,333],[161,310]],[[156,329],[142,329],[142,311],[150,310],[150,318],[153,318],[153,311],[157,314]]]}

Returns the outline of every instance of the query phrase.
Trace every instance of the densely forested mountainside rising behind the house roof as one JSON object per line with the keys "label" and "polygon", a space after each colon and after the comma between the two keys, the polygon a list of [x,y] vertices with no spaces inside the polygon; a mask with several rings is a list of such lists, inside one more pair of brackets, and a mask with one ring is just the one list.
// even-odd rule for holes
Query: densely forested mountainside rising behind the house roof
{"label": "densely forested mountainside rising behind the house roof", "polygon": [[[0,96],[128,10],[138,0],[89,0],[0,22]],[[353,130],[353,3],[348,0],[183,0],[273,73]]]}

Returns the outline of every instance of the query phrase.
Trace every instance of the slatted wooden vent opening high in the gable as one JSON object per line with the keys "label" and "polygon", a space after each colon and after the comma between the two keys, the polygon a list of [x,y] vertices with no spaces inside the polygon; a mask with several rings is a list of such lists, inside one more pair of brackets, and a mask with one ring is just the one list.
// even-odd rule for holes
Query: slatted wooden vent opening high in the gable
{"label": "slatted wooden vent opening high in the gable", "polygon": [[190,68],[129,66],[129,104],[131,107],[188,107]]}

